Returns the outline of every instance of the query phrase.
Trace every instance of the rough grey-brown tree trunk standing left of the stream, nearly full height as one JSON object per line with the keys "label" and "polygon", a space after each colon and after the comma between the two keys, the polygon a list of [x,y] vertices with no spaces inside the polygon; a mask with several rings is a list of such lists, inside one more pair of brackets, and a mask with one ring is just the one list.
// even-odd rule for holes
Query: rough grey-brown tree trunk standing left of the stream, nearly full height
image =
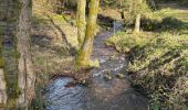
{"label": "rough grey-brown tree trunk standing left of the stream, nearly full height", "polygon": [[28,107],[34,97],[34,82],[35,75],[33,73],[31,52],[30,52],[30,29],[31,29],[31,15],[32,15],[32,2],[31,0],[20,0],[22,7],[19,19],[18,30],[18,52],[20,57],[18,59],[18,86],[21,90],[19,97],[19,105],[21,107]]}

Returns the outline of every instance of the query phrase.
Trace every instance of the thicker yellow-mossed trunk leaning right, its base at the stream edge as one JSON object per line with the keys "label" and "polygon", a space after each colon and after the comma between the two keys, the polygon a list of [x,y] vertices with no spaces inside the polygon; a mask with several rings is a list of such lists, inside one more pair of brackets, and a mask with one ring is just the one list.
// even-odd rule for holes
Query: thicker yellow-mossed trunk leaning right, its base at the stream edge
{"label": "thicker yellow-mossed trunk leaning right, its base at the stream edge", "polygon": [[76,66],[79,68],[90,67],[90,57],[92,55],[98,4],[100,4],[100,0],[90,1],[88,20],[86,25],[85,38],[76,56]]}

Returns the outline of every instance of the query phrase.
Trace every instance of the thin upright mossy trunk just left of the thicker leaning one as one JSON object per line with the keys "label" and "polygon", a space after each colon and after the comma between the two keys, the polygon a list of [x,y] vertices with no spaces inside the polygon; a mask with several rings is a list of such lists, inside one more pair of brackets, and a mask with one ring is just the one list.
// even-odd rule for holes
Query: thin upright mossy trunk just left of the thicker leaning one
{"label": "thin upright mossy trunk just left of the thicker leaning one", "polygon": [[77,0],[77,41],[79,48],[84,42],[85,37],[85,7],[86,0]]}

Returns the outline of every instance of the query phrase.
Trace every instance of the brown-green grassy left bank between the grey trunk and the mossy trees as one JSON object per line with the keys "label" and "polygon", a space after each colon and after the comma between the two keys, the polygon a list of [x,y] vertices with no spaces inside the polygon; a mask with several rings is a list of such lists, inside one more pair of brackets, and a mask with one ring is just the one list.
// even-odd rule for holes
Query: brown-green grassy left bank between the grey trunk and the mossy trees
{"label": "brown-green grassy left bank between the grey trunk and the mossy trees", "polygon": [[[65,37],[71,46],[76,46],[76,30],[71,15],[56,14],[48,0],[33,2],[31,50],[34,72],[36,73],[36,98],[31,109],[44,110],[49,105],[43,98],[44,86],[50,77],[72,70],[74,57],[70,55]],[[44,3],[43,3],[44,2]],[[72,25],[73,23],[73,25]]]}

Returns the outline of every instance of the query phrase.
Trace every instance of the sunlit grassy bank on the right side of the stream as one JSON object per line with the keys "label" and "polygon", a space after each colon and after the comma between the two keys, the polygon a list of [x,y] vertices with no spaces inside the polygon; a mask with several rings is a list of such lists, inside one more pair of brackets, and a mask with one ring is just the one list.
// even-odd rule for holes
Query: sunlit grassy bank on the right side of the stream
{"label": "sunlit grassy bank on the right side of the stream", "polygon": [[144,32],[117,32],[106,41],[129,54],[132,85],[149,98],[150,110],[186,110],[188,106],[187,13],[161,9],[147,18]]}

